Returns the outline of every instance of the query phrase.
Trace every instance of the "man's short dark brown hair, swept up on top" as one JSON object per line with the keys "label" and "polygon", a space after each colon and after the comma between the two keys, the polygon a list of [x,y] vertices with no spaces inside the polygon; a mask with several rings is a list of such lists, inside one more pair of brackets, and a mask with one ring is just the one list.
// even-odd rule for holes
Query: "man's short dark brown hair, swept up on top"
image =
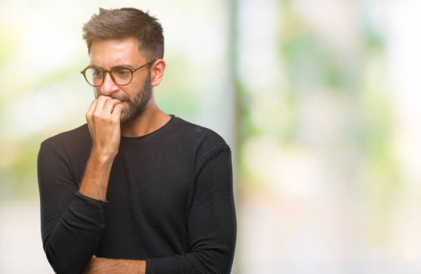
{"label": "man's short dark brown hair, swept up on top", "polygon": [[135,37],[139,40],[139,50],[150,60],[164,57],[164,35],[158,19],[148,12],[136,8],[105,10],[100,8],[83,25],[83,39],[87,43],[88,52],[95,41],[109,39],[126,39]]}

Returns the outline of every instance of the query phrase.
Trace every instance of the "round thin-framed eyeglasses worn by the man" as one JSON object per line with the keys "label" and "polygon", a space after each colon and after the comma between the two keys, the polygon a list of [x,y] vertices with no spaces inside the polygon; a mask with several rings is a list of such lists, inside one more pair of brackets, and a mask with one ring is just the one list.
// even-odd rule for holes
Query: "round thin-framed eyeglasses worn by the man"
{"label": "round thin-framed eyeglasses worn by the man", "polygon": [[92,87],[99,87],[102,85],[102,83],[104,83],[105,74],[107,74],[107,72],[109,72],[111,79],[113,79],[116,85],[129,85],[131,79],[133,79],[133,72],[136,72],[136,70],[140,70],[142,67],[146,67],[147,65],[151,65],[151,63],[155,62],[156,60],[157,59],[153,59],[149,63],[141,65],[134,70],[124,65],[113,67],[111,70],[104,70],[103,68],[97,67],[96,65],[88,65],[85,67],[85,70],[81,71],[80,73],[83,74],[87,83]]}

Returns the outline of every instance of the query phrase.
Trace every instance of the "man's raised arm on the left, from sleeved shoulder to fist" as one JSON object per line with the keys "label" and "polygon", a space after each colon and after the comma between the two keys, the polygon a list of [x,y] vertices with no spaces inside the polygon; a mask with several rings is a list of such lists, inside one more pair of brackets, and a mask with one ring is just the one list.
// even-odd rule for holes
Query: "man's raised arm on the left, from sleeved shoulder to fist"
{"label": "man's raised arm on the left, from sleeved shoulder to fist", "polygon": [[[98,109],[97,101],[91,104],[89,112],[94,113]],[[111,112],[111,103],[117,103],[111,98],[108,98],[108,101],[108,104],[98,103],[102,112]],[[115,109],[117,111],[114,112],[114,116],[118,119],[121,107]],[[118,130],[119,134],[120,124],[118,123],[117,130],[115,124],[111,123],[104,126],[104,123],[95,124],[88,120],[88,124],[94,146],[79,190],[69,170],[69,160],[64,149],[57,149],[44,142],[38,155],[41,235],[45,254],[56,273],[81,273],[95,253],[105,228],[105,193],[109,171],[118,147],[109,149],[101,146],[101,143],[98,144],[100,139],[95,138],[95,134],[100,134],[100,125],[102,131],[111,128],[113,131]],[[103,136],[109,138],[110,134]]]}

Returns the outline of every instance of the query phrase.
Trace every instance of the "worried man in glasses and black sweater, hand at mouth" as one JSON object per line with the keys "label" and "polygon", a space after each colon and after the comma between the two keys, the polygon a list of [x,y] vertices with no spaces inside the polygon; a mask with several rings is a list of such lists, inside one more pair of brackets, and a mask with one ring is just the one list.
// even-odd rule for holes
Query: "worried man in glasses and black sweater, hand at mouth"
{"label": "worried man in glasses and black sweater, hand at mouth", "polygon": [[157,19],[100,9],[84,25],[96,99],[87,123],[41,143],[43,248],[57,273],[229,273],[236,239],[230,147],[162,112]]}

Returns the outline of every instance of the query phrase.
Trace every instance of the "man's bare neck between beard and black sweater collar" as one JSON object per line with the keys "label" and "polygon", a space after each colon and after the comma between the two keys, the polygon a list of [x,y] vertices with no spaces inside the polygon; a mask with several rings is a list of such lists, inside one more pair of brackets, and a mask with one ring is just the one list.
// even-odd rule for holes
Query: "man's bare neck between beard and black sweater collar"
{"label": "man's bare neck between beard and black sweater collar", "polygon": [[121,136],[140,137],[150,134],[165,125],[170,118],[171,116],[159,109],[152,97],[138,118],[120,127]]}

